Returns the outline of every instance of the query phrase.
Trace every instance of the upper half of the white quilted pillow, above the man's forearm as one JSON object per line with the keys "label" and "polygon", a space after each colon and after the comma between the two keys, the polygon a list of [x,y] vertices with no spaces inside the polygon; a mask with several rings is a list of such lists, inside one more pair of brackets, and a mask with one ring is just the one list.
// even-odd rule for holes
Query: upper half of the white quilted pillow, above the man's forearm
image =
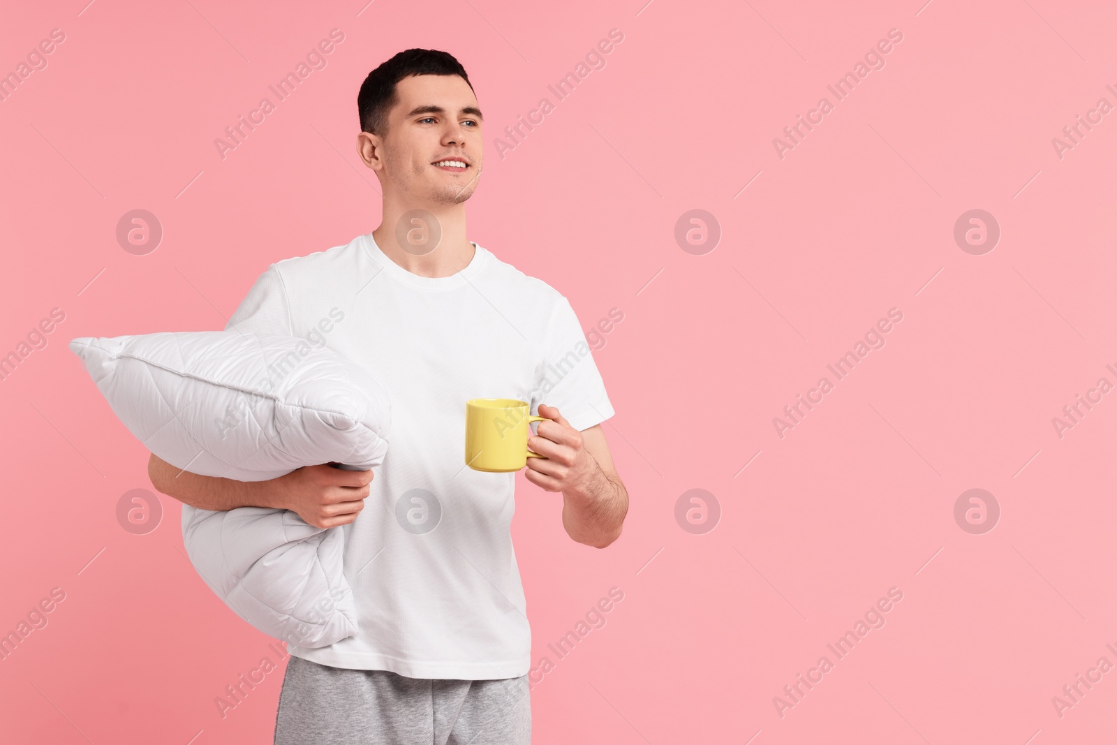
{"label": "upper half of the white quilted pillow, above the man's forearm", "polygon": [[388,449],[383,386],[295,336],[178,332],[69,348],[128,431],[193,474],[262,481],[331,461],[365,470]]}

